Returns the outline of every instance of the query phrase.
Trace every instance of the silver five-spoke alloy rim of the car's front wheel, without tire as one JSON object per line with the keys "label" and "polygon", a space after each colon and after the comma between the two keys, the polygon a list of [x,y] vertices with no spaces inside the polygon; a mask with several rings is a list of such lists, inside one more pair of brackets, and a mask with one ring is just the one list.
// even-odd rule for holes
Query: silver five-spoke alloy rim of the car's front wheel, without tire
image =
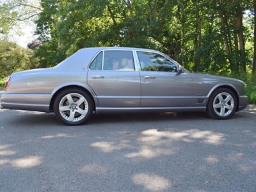
{"label": "silver five-spoke alloy rim of the car's front wheel, without tire", "polygon": [[228,116],[234,111],[235,101],[232,95],[221,92],[213,100],[214,112],[219,116]]}

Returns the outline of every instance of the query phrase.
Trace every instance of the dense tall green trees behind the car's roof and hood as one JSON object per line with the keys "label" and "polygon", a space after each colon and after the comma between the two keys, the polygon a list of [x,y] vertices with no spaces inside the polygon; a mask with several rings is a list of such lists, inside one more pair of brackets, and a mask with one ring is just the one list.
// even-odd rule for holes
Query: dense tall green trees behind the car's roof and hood
{"label": "dense tall green trees behind the car's roof and hood", "polygon": [[249,0],[42,0],[41,6],[36,33],[47,43],[40,49],[56,52],[47,60],[36,52],[44,66],[82,47],[115,45],[157,49],[197,72],[245,72],[252,61],[244,46],[252,33],[243,25]]}

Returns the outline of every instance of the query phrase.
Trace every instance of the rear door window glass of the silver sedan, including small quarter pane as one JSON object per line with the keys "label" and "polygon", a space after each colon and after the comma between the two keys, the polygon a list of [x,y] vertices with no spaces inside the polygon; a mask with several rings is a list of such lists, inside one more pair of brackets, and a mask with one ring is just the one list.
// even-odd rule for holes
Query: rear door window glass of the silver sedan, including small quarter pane
{"label": "rear door window glass of the silver sedan, including small quarter pane", "polygon": [[[103,62],[102,62],[103,57]],[[91,70],[135,70],[132,51],[100,52],[90,65]]]}

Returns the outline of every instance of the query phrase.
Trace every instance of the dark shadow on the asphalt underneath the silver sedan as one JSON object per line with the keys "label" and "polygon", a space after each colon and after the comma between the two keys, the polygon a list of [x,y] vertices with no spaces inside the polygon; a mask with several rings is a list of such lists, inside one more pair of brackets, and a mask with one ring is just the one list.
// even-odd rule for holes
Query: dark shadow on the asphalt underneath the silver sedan
{"label": "dark shadow on the asphalt underneath the silver sedan", "polygon": [[[29,111],[19,113],[13,118],[12,125],[44,126],[66,126],[61,124],[54,113],[31,113]],[[244,118],[244,113],[235,113],[231,119]],[[120,124],[120,123],[144,123],[144,122],[172,122],[172,121],[195,121],[195,120],[214,120],[204,112],[170,112],[170,113],[104,113],[93,114],[86,125],[97,124]]]}

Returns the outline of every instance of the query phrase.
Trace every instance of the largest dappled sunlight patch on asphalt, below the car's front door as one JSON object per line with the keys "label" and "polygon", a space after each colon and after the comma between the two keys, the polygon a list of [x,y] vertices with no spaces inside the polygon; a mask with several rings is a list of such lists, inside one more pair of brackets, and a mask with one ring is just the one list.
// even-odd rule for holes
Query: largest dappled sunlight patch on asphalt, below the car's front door
{"label": "largest dappled sunlight patch on asphalt, below the car's front door", "polygon": [[[225,140],[224,134],[213,131],[200,131],[192,129],[187,131],[159,131],[158,129],[149,129],[142,131],[137,138],[136,146],[127,140],[118,142],[98,141],[91,144],[91,147],[98,148],[101,152],[109,153],[115,150],[125,148],[136,149],[134,152],[129,152],[125,155],[127,158],[143,157],[143,159],[151,159],[158,156],[168,156],[175,154],[179,150],[179,146],[173,145],[175,142],[203,142],[208,145],[221,145]],[[218,162],[214,157],[208,157],[205,161],[211,163]]]}

